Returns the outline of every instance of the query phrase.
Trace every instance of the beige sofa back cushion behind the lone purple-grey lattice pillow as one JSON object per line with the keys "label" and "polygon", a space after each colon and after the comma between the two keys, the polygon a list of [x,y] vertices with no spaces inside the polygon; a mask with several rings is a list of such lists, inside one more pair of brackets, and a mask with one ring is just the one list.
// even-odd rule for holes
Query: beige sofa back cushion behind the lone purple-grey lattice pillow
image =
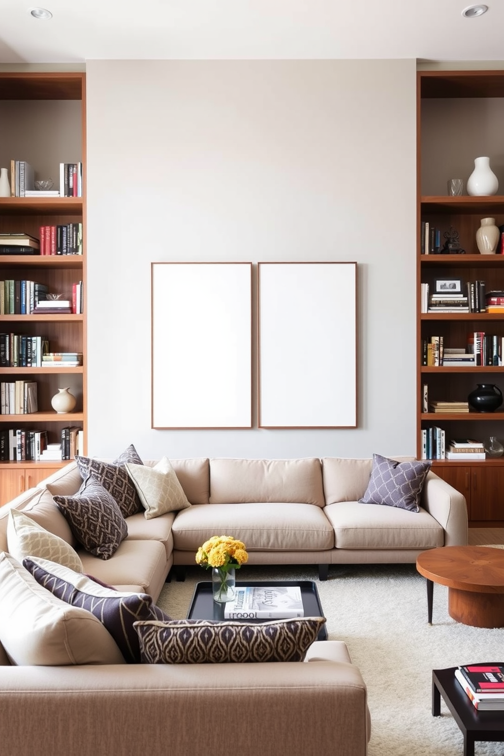
{"label": "beige sofa back cushion behind the lone purple-grey lattice pillow", "polygon": [[[415,457],[394,457],[397,462],[414,460]],[[345,459],[323,457],[322,478],[326,504],[339,501],[358,501],[366,491],[373,469],[372,459]]]}

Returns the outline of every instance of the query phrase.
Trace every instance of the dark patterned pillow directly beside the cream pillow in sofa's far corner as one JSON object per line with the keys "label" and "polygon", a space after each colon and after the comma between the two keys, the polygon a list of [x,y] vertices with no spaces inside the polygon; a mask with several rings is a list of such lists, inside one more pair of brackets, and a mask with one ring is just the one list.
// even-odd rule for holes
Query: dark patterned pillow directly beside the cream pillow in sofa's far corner
{"label": "dark patterned pillow directly beside the cream pillow in sofa's far corner", "polygon": [[137,489],[125,470],[125,464],[128,462],[135,465],[144,464],[132,444],[112,463],[100,462],[93,457],[76,457],[82,480],[85,481],[92,475],[104,488],[107,488],[125,517],[135,515],[143,509]]}

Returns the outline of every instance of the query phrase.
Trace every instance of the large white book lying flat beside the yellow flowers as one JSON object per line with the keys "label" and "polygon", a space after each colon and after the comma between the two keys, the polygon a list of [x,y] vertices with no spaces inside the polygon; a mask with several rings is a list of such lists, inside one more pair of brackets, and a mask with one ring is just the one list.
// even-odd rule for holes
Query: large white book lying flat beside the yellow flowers
{"label": "large white book lying flat beside the yellow flowers", "polygon": [[304,617],[301,587],[254,585],[235,588],[224,605],[225,619],[289,619]]}

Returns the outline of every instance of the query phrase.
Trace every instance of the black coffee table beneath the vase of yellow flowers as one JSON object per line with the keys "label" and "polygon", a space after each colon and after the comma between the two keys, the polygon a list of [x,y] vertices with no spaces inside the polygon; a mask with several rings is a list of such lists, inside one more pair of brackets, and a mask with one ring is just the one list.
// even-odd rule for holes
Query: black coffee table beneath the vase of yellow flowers
{"label": "black coffee table beneath the vase of yellow flowers", "polygon": [[[303,601],[303,609],[305,609],[305,617],[323,617],[317,585],[314,583],[314,581],[237,581],[238,588],[253,587],[255,585],[261,584],[271,587],[286,585],[299,586],[301,588],[301,599]],[[224,621],[224,604],[214,601],[212,583],[210,581],[196,583],[193,598],[190,602],[189,612],[187,612],[187,619],[213,619],[221,622]],[[269,620],[243,619],[236,621],[267,622]],[[319,634],[317,635],[317,640],[327,640],[327,631],[325,624],[320,628]]]}

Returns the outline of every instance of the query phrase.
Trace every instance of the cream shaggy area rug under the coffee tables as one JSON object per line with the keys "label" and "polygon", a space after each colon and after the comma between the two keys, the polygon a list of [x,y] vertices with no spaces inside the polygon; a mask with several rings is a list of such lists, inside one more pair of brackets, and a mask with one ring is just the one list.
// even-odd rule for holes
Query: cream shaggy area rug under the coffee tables
{"label": "cream shaggy area rug under the coffee tables", "polygon": [[[187,568],[184,582],[165,584],[158,604],[185,617],[199,580]],[[504,630],[467,627],[450,618],[447,588],[434,585],[432,625],[427,623],[425,579],[414,565],[343,565],[318,581],[310,566],[243,567],[242,580],[314,580],[329,640],[344,640],[368,689],[372,736],[369,756],[457,756],[463,739],[441,701],[431,715],[431,671],[470,662],[504,662]],[[502,713],[504,717],[504,712]],[[481,743],[475,756],[502,756],[503,743]]]}

